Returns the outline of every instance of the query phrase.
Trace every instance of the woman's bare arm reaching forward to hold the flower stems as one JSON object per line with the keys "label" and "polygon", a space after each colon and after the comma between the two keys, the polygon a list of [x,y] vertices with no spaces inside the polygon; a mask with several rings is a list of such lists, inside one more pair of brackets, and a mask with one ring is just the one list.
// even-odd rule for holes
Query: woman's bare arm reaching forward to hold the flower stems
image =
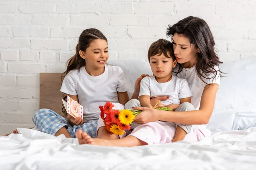
{"label": "woman's bare arm reaching forward to hold the flower stems", "polygon": [[138,114],[134,121],[139,124],[155,122],[157,120],[175,122],[184,125],[207,124],[212,115],[218,87],[219,85],[215,83],[204,87],[198,111],[167,112],[151,108],[137,107],[134,109],[142,110],[143,112]]}

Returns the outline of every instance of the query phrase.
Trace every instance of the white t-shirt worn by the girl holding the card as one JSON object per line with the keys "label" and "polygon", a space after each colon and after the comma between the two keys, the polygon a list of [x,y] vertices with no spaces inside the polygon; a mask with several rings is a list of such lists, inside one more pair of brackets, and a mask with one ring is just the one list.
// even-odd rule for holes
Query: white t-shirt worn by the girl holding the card
{"label": "white t-shirt worn by the girl holding the card", "polygon": [[70,71],[61,85],[61,92],[77,95],[83,106],[84,122],[98,120],[99,106],[106,102],[119,103],[118,92],[128,91],[125,74],[118,66],[105,65],[105,71],[99,76],[90,76],[85,67]]}

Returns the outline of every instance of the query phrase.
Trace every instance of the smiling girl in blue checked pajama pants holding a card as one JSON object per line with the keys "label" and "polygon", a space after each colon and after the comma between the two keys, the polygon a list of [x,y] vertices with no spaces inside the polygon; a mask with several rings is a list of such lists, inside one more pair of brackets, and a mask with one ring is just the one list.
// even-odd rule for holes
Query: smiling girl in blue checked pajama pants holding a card
{"label": "smiling girl in blue checked pajama pants holding a card", "polygon": [[102,32],[94,28],[84,30],[76,54],[67,61],[61,86],[61,92],[83,106],[83,119],[70,115],[65,119],[54,111],[41,109],[33,117],[40,131],[76,137],[76,131],[81,129],[96,137],[99,105],[108,101],[125,105],[129,100],[125,75],[121,68],[106,65],[108,57],[108,40]]}

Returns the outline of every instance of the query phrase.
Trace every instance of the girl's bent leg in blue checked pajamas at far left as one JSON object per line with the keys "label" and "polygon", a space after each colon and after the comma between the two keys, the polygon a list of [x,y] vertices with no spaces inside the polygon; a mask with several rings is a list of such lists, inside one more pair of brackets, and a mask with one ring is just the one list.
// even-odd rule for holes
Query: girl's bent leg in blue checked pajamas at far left
{"label": "girl's bent leg in blue checked pajamas at far left", "polygon": [[71,137],[67,130],[71,125],[67,119],[50,109],[40,109],[36,111],[32,120],[41,132],[54,136],[64,134],[66,137]]}

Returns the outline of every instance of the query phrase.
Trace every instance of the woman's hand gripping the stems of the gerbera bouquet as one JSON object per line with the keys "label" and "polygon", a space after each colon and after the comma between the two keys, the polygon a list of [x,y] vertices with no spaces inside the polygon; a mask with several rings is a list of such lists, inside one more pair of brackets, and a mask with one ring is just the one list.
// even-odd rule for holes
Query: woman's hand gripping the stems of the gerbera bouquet
{"label": "woman's hand gripping the stems of the gerbera bouquet", "polygon": [[132,109],[142,111],[140,114],[135,116],[134,122],[138,124],[145,124],[148,122],[156,122],[159,120],[158,118],[158,110],[153,108],[145,108],[145,107],[135,107]]}

